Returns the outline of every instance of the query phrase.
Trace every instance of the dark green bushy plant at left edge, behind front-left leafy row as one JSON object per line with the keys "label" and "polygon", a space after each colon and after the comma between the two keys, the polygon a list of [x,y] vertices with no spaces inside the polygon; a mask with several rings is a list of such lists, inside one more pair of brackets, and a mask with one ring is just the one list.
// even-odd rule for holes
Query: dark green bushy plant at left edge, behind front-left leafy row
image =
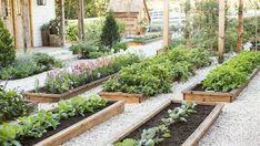
{"label": "dark green bushy plant at left edge, behind front-left leafy row", "polygon": [[0,123],[24,116],[33,111],[34,106],[26,103],[22,95],[0,88]]}

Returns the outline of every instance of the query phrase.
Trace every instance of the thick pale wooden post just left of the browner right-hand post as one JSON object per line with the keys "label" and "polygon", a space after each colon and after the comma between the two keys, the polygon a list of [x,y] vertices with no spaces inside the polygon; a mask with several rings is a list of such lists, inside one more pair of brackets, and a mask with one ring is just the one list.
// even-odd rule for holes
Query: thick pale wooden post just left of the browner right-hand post
{"label": "thick pale wooden post just left of the browner right-hand post", "polygon": [[224,19],[226,19],[226,0],[219,0],[219,36],[218,36],[218,54],[219,63],[223,62],[224,52]]}

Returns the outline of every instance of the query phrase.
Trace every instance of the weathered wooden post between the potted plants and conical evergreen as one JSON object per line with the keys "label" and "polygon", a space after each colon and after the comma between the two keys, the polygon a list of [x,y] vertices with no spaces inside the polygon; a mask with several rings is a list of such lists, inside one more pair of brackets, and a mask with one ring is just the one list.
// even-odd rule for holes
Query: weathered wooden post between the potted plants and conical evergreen
{"label": "weathered wooden post between the potted plants and conical evergreen", "polygon": [[84,1],[78,0],[78,27],[79,38],[82,41],[84,39]]}

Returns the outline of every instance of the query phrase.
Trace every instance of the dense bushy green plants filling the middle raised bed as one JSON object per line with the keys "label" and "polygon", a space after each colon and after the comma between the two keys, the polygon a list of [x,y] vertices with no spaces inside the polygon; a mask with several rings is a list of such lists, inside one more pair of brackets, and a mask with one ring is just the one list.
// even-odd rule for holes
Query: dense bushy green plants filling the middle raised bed
{"label": "dense bushy green plants filling the middle raised bed", "polygon": [[209,55],[203,54],[207,54],[203,50],[173,49],[168,54],[124,67],[118,77],[103,84],[103,91],[148,96],[168,93],[172,81],[187,81],[193,70],[209,65]]}

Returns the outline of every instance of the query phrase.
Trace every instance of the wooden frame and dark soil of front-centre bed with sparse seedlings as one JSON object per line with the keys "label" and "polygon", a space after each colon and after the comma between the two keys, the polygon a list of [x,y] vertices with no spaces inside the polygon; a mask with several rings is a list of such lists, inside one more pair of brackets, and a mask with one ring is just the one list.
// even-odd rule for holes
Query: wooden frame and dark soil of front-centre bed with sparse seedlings
{"label": "wooden frame and dark soil of front-centre bed with sparse seedlings", "polygon": [[[164,138],[160,146],[192,146],[196,145],[217,119],[223,104],[221,103],[197,103],[196,114],[187,117],[187,122],[178,122],[169,126],[170,137]],[[123,133],[117,135],[111,143],[118,143],[126,138],[140,139],[143,129],[159,126],[161,118],[167,117],[168,109],[179,107],[179,101],[169,101],[163,103],[159,108],[152,111],[148,116],[143,117]]]}

